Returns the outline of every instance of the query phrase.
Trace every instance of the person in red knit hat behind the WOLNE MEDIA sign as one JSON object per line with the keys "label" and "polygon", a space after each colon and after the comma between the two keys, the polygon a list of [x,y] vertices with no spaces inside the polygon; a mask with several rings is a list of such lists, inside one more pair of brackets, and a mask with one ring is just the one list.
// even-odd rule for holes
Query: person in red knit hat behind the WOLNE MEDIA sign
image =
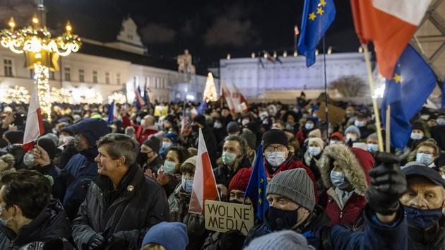
{"label": "person in red knit hat behind the WOLNE MEDIA sign", "polygon": [[[251,169],[242,168],[239,169],[237,174],[232,178],[229,184],[229,202],[239,204],[251,204],[250,198],[244,199],[244,192],[246,191],[247,184],[249,184],[249,178],[251,175]],[[229,230],[227,232],[213,232],[206,241],[204,241],[202,250],[234,250],[242,249],[246,237],[242,235],[238,230]]]}

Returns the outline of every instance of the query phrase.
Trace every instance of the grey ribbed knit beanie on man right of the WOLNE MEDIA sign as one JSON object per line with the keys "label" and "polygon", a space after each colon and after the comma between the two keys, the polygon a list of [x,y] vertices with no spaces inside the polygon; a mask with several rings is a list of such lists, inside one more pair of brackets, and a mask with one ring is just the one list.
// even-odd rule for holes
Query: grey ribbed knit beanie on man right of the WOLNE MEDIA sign
{"label": "grey ribbed knit beanie on man right of the WOLNE MEDIA sign", "polygon": [[266,196],[277,194],[297,203],[309,211],[314,210],[314,183],[302,168],[279,172],[269,181]]}

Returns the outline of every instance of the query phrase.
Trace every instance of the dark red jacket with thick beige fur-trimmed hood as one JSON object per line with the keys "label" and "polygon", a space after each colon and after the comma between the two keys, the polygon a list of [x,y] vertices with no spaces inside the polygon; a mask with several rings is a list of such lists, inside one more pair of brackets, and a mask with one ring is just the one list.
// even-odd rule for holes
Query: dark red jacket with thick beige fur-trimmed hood
{"label": "dark red jacket with thick beige fur-trimmed hood", "polygon": [[[336,192],[336,186],[331,182],[331,170],[333,169],[333,161],[336,160],[338,167],[345,174],[350,184],[354,187],[354,191],[345,201],[344,206],[340,205],[340,198]],[[369,169],[374,165],[374,158],[370,153],[360,148],[348,148],[345,145],[331,145],[324,149],[323,154],[318,161],[326,187],[326,194],[321,198],[321,206],[331,217],[329,226],[337,224],[347,224],[358,226],[362,224],[361,213],[366,205],[364,192],[369,183],[367,174]]]}

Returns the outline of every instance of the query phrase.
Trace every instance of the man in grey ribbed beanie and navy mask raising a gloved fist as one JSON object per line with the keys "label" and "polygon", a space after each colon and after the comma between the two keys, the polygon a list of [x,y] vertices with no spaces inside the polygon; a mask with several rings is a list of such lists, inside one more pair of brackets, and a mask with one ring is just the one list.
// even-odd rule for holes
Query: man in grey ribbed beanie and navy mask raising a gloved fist
{"label": "man in grey ribbed beanie and navy mask raising a gloved fist", "polygon": [[315,203],[312,180],[303,169],[291,169],[268,183],[270,207],[264,222],[249,231],[244,245],[270,232],[293,230],[316,249],[406,249],[408,225],[398,201],[406,190],[405,176],[395,155],[379,153],[376,160],[381,165],[369,172],[372,181],[365,194],[363,232],[341,225],[326,227],[329,218]]}

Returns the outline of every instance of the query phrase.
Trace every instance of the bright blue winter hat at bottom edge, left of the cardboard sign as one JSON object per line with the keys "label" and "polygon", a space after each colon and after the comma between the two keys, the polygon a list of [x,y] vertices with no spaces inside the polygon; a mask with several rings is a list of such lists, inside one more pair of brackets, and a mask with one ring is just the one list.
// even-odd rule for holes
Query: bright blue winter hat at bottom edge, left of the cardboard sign
{"label": "bright blue winter hat at bottom edge, left of the cardboard sign", "polygon": [[142,246],[155,243],[167,250],[184,250],[189,244],[186,226],[180,222],[160,222],[148,230]]}

